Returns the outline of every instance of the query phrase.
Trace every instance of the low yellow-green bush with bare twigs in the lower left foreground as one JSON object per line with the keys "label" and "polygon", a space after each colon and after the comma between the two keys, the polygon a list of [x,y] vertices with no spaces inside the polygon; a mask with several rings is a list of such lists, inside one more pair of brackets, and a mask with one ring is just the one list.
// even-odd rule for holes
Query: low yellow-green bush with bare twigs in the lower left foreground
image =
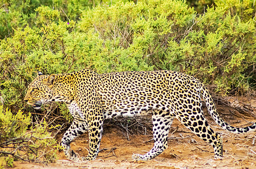
{"label": "low yellow-green bush with bare twigs in the lower left foreground", "polygon": [[7,166],[17,159],[52,162],[59,148],[45,121],[32,123],[31,114],[25,115],[21,110],[13,114],[0,106],[0,161],[4,160]]}

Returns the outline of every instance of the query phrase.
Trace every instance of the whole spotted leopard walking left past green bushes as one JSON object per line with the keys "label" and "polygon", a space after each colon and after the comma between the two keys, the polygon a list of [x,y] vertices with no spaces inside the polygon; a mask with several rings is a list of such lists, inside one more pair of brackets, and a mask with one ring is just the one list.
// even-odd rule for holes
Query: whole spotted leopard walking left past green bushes
{"label": "whole spotted leopard walking left past green bushes", "polygon": [[[172,70],[98,74],[84,69],[49,75],[39,72],[28,85],[24,101],[35,109],[52,101],[66,103],[74,121],[63,135],[61,145],[66,158],[73,161],[92,161],[97,157],[104,119],[133,117],[143,112],[152,114],[155,142],[146,154],[133,154],[134,161],[148,161],[167,149],[175,118],[212,145],[215,159],[222,158],[222,139],[206,121],[203,101],[208,113],[224,130],[235,134],[256,130],[256,123],[233,127],[224,122],[206,86],[193,76]],[[88,155],[79,157],[70,143],[85,132],[88,132]]]}

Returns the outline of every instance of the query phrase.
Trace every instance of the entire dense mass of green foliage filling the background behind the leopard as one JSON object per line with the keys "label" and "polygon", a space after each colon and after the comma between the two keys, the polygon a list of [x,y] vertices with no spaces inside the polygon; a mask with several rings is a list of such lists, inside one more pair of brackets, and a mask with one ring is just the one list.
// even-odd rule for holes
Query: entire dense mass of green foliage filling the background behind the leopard
{"label": "entire dense mass of green foliage filling the background behind the leopard", "polygon": [[0,10],[0,97],[11,110],[24,109],[39,70],[168,69],[218,95],[255,87],[253,0],[4,0]]}

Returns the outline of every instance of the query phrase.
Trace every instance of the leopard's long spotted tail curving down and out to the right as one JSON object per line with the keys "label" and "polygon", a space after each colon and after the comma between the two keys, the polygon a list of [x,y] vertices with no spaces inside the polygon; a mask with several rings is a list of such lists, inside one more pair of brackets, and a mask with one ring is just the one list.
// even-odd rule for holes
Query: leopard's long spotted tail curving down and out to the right
{"label": "leopard's long spotted tail curving down and out to the right", "polygon": [[207,109],[208,109],[208,113],[211,115],[211,117],[214,119],[214,121],[217,124],[219,124],[219,126],[224,128],[225,130],[228,130],[228,131],[236,133],[236,134],[240,134],[240,133],[245,133],[245,132],[255,131],[256,130],[256,123],[254,123],[254,124],[252,124],[251,126],[248,126],[248,127],[237,128],[237,127],[230,126],[227,122],[224,122],[223,119],[221,119],[219,114],[217,113],[216,105],[215,105],[214,100],[212,99],[209,91],[204,86],[204,84],[202,84],[202,83],[200,83],[200,84],[201,84],[200,94],[203,96],[203,99],[204,99],[204,101],[206,103],[206,106],[207,106]]}

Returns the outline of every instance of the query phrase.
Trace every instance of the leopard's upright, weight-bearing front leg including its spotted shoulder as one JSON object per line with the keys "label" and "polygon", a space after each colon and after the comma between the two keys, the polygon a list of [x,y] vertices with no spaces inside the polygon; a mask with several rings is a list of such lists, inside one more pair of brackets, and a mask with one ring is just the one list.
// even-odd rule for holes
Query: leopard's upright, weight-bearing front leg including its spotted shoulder
{"label": "leopard's upright, weight-bearing front leg including its spotted shoulder", "polygon": [[100,78],[97,74],[87,73],[83,75],[76,91],[76,103],[79,112],[83,114],[88,124],[89,152],[87,157],[81,157],[81,161],[95,159],[100,150],[100,141],[103,132],[103,108],[101,95],[99,94]]}

